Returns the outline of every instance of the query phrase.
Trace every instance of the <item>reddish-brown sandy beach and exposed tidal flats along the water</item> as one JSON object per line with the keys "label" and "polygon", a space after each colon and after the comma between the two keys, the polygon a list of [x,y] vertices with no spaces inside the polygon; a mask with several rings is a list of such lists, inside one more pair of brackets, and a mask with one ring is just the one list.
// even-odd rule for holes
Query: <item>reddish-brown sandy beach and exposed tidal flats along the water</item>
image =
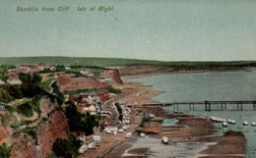
{"label": "reddish-brown sandy beach and exposed tidal flats along the water", "polygon": [[[144,85],[138,82],[128,82],[127,79],[143,78],[156,75],[165,75],[170,73],[157,73],[147,74],[140,76],[122,77],[124,84],[119,85],[125,95],[118,99],[127,105],[136,105],[132,107],[131,113],[131,125],[129,132],[140,130],[143,132],[156,132],[150,134],[150,137],[161,138],[162,136],[168,136],[175,142],[212,142],[206,149],[200,151],[200,157],[202,158],[214,158],[214,157],[246,157],[246,139],[241,132],[226,132],[223,135],[214,135],[218,130],[215,128],[214,123],[206,118],[198,118],[195,116],[183,115],[183,114],[168,114],[163,109],[159,111],[156,108],[143,108],[139,105],[142,103],[159,103],[154,100],[153,97],[160,94],[162,91],[154,90],[148,85]],[[131,90],[132,89],[132,90]],[[127,92],[129,91],[129,92]],[[144,128],[138,128],[143,115],[138,115],[138,111],[142,113],[153,113],[157,118],[175,118],[178,120],[176,126],[162,127],[160,123],[149,122]],[[117,135],[103,134],[102,139],[106,139],[105,142],[100,144],[94,152],[86,153],[85,156],[79,157],[135,157],[135,156],[122,156],[124,152],[127,152],[131,148],[132,144],[138,139],[138,135],[133,135],[132,138],[125,138],[125,133],[118,133]],[[213,144],[214,143],[214,144]],[[239,144],[239,148],[234,145]],[[103,147],[102,147],[103,146]],[[100,149],[99,149],[100,148]],[[143,155],[143,153],[140,153]],[[144,156],[148,157],[147,154]]]}

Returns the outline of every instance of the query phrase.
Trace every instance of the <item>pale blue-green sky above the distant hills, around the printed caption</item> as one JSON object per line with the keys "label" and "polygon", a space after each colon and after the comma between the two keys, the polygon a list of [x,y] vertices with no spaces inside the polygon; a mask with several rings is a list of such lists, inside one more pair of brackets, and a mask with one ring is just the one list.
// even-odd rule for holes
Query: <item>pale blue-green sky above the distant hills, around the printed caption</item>
{"label": "pale blue-green sky above the distant hills, around the printed caption", "polygon": [[256,60],[256,1],[0,0],[0,57],[21,56]]}

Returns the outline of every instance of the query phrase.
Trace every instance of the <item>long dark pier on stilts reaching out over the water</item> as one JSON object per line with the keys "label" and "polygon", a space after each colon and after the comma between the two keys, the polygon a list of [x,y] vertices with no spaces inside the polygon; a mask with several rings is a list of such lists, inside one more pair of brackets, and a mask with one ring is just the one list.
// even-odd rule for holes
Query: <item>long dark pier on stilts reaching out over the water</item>
{"label": "long dark pier on stilts reaching out over the water", "polygon": [[252,105],[252,109],[256,110],[256,100],[254,101],[190,101],[190,102],[167,102],[167,103],[149,103],[143,104],[144,107],[158,107],[162,109],[162,106],[173,106],[173,112],[178,112],[179,105],[188,105],[189,110],[195,110],[195,106],[204,105],[205,111],[211,111],[212,107],[216,105],[221,105],[221,109],[219,110],[226,110],[226,105],[236,105],[237,110],[243,110],[244,105]]}

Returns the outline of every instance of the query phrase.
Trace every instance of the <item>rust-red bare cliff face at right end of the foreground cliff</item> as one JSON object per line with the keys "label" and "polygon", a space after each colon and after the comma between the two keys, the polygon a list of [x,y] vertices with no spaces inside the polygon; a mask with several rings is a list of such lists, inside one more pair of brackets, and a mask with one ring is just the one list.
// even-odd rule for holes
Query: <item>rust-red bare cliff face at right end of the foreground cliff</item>
{"label": "rust-red bare cliff face at right end of the foreground cliff", "polygon": [[55,111],[48,121],[38,127],[37,134],[41,157],[45,158],[51,153],[51,146],[57,138],[68,138],[69,128],[64,113]]}

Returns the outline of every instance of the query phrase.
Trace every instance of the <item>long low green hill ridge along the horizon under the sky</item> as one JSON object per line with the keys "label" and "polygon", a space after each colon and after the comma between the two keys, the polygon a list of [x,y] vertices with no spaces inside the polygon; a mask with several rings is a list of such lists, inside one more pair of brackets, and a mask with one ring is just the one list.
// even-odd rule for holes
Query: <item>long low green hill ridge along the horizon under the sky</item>
{"label": "long low green hill ridge along the horizon under the sky", "polygon": [[122,58],[90,58],[90,57],[2,57],[1,64],[21,65],[21,64],[55,64],[55,65],[83,65],[83,66],[130,66],[130,65],[155,65],[155,66],[238,66],[256,67],[256,61],[230,61],[230,62],[162,62],[154,60],[137,60]]}

